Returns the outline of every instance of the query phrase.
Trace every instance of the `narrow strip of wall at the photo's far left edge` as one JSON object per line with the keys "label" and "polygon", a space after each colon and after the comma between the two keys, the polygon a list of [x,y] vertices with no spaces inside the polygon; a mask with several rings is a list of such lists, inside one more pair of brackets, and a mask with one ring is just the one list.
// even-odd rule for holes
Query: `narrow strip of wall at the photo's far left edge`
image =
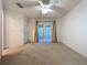
{"label": "narrow strip of wall at the photo's far left edge", "polygon": [[0,58],[2,54],[2,3],[0,0]]}

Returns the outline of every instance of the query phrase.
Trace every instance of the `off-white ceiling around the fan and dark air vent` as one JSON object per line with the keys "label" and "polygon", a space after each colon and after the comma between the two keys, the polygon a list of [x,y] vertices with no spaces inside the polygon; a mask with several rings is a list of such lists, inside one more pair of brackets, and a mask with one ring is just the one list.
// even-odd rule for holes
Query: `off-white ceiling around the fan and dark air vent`
{"label": "off-white ceiling around the fan and dark air vent", "polygon": [[[53,0],[54,1],[54,0]],[[29,6],[26,8],[19,8],[15,3],[28,3]],[[3,0],[3,6],[6,11],[14,11],[14,12],[21,12],[28,18],[62,18],[64,14],[66,14],[70,9],[73,9],[79,0],[58,0],[56,3],[56,7],[52,7],[54,12],[50,12],[47,14],[42,14],[41,11],[37,11],[33,3],[36,3],[36,0]]]}

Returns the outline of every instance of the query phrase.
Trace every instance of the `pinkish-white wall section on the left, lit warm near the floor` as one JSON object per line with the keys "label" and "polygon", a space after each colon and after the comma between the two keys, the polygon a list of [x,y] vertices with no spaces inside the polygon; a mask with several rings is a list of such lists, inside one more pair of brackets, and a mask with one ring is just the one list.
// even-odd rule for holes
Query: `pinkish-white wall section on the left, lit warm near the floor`
{"label": "pinkish-white wall section on the left, lit warm near the floor", "polygon": [[6,11],[6,47],[24,44],[24,17],[19,12]]}

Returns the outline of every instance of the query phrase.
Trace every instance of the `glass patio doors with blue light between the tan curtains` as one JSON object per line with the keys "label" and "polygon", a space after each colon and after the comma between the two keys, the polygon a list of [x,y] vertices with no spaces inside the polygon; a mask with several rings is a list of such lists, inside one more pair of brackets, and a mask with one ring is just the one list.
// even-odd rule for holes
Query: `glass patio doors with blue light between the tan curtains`
{"label": "glass patio doors with blue light between the tan curtains", "polygon": [[37,42],[50,44],[52,42],[52,22],[37,22]]}

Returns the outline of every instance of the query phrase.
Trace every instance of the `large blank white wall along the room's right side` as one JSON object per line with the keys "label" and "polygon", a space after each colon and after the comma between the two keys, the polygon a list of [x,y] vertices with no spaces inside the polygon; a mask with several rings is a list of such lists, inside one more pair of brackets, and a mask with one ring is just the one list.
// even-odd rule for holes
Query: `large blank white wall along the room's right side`
{"label": "large blank white wall along the room's right side", "polygon": [[62,19],[62,42],[87,57],[87,0]]}

